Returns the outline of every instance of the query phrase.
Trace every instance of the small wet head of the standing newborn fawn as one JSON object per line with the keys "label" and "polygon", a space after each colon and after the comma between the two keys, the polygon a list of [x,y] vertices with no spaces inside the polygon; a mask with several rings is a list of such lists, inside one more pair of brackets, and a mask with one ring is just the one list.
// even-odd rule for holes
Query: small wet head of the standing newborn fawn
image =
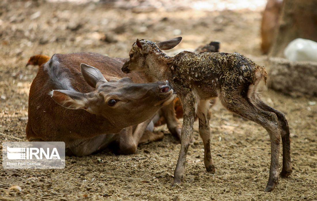
{"label": "small wet head of the standing newborn fawn", "polygon": [[172,38],[163,42],[155,43],[151,40],[139,40],[133,43],[129,52],[129,60],[123,64],[122,71],[124,73],[130,73],[132,71],[143,71],[146,69],[147,58],[151,54],[156,54],[155,57],[165,57],[165,53],[162,50],[170,50],[177,46],[182,40],[182,37]]}

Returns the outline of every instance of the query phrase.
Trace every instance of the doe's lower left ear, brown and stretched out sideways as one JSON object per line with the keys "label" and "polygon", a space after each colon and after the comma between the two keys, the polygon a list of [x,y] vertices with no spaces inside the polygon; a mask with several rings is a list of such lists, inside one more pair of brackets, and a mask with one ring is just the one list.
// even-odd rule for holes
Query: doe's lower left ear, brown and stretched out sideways
{"label": "doe's lower left ear, brown and stretched out sideways", "polygon": [[69,90],[53,90],[50,93],[53,100],[68,109],[87,109],[85,94]]}

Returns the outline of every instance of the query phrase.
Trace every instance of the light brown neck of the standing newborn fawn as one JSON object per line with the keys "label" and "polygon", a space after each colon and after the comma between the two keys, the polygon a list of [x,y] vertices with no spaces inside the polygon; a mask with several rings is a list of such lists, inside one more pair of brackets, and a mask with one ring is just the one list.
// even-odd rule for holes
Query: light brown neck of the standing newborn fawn
{"label": "light brown neck of the standing newborn fawn", "polygon": [[167,65],[169,59],[166,55],[165,57],[158,57],[154,52],[148,55],[146,75],[155,78],[157,81],[169,80],[171,75]]}

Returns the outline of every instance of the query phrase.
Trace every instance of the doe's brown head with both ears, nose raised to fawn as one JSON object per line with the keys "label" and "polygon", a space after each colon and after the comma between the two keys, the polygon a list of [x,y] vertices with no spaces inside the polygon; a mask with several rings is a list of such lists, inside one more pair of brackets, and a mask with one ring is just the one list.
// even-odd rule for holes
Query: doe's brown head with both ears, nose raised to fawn
{"label": "doe's brown head with both ears, nose raised to fawn", "polygon": [[94,91],[53,90],[51,97],[62,107],[103,116],[116,127],[139,124],[175,98],[167,81],[134,83],[124,77],[107,82],[98,69],[86,64],[81,64],[81,73]]}

